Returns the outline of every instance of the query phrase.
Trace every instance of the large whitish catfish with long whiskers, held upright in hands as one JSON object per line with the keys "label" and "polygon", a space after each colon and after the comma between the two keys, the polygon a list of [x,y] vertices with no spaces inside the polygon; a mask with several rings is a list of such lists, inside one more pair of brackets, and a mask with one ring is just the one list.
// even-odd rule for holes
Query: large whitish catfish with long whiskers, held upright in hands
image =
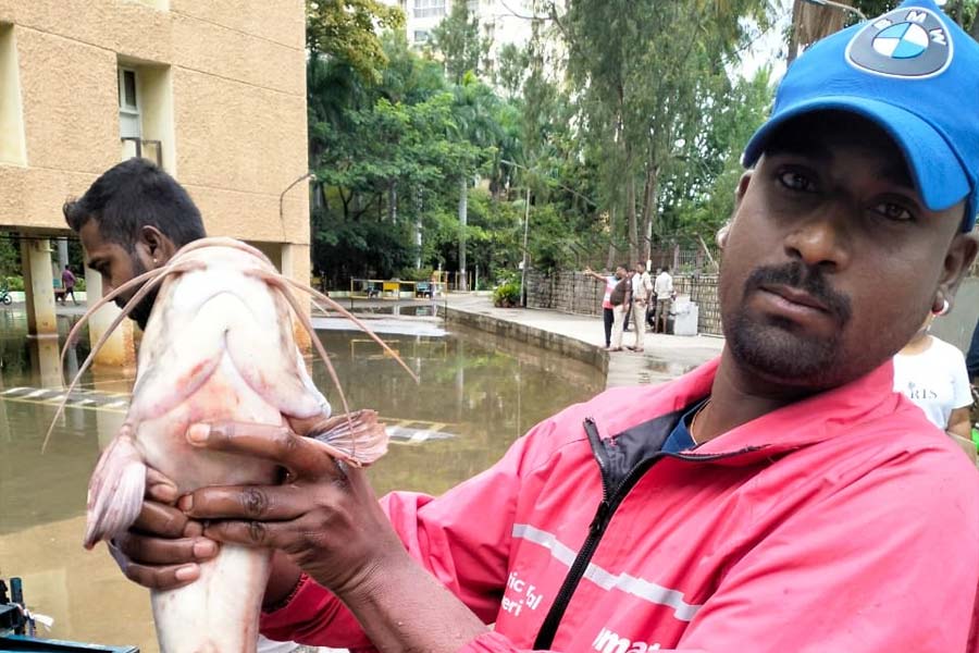
{"label": "large whitish catfish with long whiskers, held upright in hands", "polygon": [[[182,494],[206,485],[277,481],[281,470],[268,461],[191,447],[185,439],[191,423],[234,420],[285,426],[289,417],[322,416],[320,440],[338,459],[368,465],[384,454],[387,436],[374,412],[326,419],[330,407],[306,372],[290,316],[303,323],[327,366],[329,358],[308,318],[298,310],[288,287],[293,282],[278,274],[259,250],[231,238],[196,241],[164,268],[134,279],[100,304],[139,284],[142,287],[127,308],[153,287],[159,287],[159,294],[140,344],[125,423],[102,453],[89,483],[86,547],[125,532],[135,521],[142,505],[147,465],[170,477]],[[339,309],[314,291],[293,285]],[[65,348],[84,320],[70,334]],[[79,377],[90,360],[91,356]],[[223,545],[213,560],[201,565],[195,582],[153,591],[161,650],[253,652],[270,557],[268,551]]]}

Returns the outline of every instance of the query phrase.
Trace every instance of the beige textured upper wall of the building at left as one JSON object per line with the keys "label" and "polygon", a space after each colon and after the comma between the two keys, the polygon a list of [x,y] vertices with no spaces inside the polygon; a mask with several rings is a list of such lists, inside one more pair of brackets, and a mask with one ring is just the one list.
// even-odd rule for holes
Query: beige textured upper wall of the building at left
{"label": "beige textured upper wall of the building at left", "polygon": [[164,140],[164,168],[200,206],[208,232],[308,246],[306,183],[289,190],[278,218],[280,194],[308,165],[303,8],[0,0],[0,26],[12,24],[15,37],[26,159],[0,162],[0,229],[63,231],[64,200],[119,162],[123,61],[151,83],[141,94],[144,138]]}

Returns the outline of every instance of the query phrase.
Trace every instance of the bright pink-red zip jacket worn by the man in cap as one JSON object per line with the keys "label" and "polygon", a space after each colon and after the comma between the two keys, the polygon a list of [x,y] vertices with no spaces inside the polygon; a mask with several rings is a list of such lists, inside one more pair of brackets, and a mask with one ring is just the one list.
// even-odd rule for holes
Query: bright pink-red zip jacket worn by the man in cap
{"label": "bright pink-red zip jacket worn by the man in cap", "polygon": [[[495,623],[464,651],[979,651],[979,473],[891,391],[891,364],[658,453],[716,369],[572,406],[438,498],[382,500],[411,555]],[[313,582],[262,631],[369,645]]]}

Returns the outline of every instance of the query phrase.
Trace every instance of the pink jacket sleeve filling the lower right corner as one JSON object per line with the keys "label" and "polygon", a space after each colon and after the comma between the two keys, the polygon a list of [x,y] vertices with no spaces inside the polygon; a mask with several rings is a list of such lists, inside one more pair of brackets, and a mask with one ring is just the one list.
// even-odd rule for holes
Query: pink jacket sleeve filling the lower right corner
{"label": "pink jacket sleeve filling the lower right corner", "polygon": [[[659,651],[979,653],[979,477],[924,458],[878,468],[776,528]],[[463,649],[518,651],[497,632]]]}

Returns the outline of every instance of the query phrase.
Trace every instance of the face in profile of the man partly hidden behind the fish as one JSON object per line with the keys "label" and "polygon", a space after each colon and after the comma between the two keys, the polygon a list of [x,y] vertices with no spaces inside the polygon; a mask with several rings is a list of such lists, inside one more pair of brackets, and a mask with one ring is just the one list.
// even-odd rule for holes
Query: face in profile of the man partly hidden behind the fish
{"label": "face in profile of the man partly hidden behind the fish", "polygon": [[[99,232],[99,224],[95,219],[85,223],[85,226],[78,232],[78,237],[82,239],[87,256],[85,264],[102,278],[103,297],[148,269],[147,263],[142,261],[144,254],[140,248],[134,245],[129,250],[119,243],[106,241]],[[125,308],[137,291],[138,288],[132,288],[117,296],[114,299],[116,306]],[[129,312],[129,317],[139,324],[140,329],[146,328],[156,297],[156,292],[148,294]]]}

